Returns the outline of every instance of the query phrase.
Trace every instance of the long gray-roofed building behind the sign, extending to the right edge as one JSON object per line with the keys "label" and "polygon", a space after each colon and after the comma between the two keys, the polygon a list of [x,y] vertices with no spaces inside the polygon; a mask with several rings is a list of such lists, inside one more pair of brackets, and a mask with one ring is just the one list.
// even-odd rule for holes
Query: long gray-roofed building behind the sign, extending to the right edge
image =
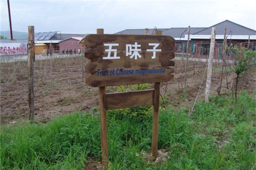
{"label": "long gray-roofed building behind the sign, extending to the right edge", "polygon": [[[224,27],[227,28],[227,45],[242,45],[247,47],[250,36],[249,48],[255,50],[256,46],[256,31],[245,26],[241,26],[237,23],[233,23],[230,20],[225,20],[221,23],[217,23],[210,27],[192,27],[190,28],[190,45],[189,53],[191,56],[200,54],[207,57],[209,55],[210,37],[212,27],[216,28],[215,42],[215,59],[221,59],[221,46],[224,39]],[[161,28],[163,35],[172,36],[175,39],[175,52],[186,53],[186,43],[188,40],[188,28]],[[119,31],[115,34],[155,34],[154,29],[126,29]]]}

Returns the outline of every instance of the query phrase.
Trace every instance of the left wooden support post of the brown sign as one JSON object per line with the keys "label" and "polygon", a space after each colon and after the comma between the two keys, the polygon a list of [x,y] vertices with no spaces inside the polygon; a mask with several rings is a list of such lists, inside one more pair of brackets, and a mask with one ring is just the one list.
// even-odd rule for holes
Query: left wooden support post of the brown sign
{"label": "left wooden support post of the brown sign", "polygon": [[[97,34],[104,34],[104,29],[97,29]],[[108,169],[108,130],[107,130],[107,110],[105,105],[106,89],[99,87],[99,112],[100,112],[100,134],[102,148],[102,166]]]}

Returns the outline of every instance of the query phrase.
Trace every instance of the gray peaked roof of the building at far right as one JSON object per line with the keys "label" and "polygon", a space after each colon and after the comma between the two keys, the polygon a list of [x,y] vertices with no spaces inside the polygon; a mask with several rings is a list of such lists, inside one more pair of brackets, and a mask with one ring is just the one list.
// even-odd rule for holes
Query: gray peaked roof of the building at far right
{"label": "gray peaked roof of the building at far right", "polygon": [[[256,31],[245,26],[241,26],[237,23],[233,23],[230,20],[222,21],[221,23],[210,26],[201,31],[194,33],[194,35],[210,35],[212,27],[216,28],[217,35],[224,35],[224,27],[227,27],[227,34],[232,35],[256,35]],[[231,32],[230,32],[231,31]]]}

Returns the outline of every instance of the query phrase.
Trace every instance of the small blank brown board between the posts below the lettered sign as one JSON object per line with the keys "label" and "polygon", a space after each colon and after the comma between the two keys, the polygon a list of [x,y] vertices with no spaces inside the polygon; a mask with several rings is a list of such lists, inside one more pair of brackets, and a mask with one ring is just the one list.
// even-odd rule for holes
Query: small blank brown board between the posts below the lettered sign
{"label": "small blank brown board between the posts below the lettered sign", "polygon": [[106,109],[122,109],[153,104],[154,90],[106,94]]}

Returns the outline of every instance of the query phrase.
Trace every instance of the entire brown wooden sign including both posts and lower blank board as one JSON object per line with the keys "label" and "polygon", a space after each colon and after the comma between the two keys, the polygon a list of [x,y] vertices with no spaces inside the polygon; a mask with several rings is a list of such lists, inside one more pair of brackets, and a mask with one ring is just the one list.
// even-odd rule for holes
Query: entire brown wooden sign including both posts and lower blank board
{"label": "entire brown wooden sign including both posts and lower blank board", "polygon": [[[127,107],[153,105],[152,155],[157,157],[160,82],[173,78],[175,40],[170,36],[97,34],[84,37],[90,48],[85,57],[87,85],[99,87],[102,164],[107,168],[108,143],[106,111]],[[106,94],[105,86],[154,83],[154,89]]]}

